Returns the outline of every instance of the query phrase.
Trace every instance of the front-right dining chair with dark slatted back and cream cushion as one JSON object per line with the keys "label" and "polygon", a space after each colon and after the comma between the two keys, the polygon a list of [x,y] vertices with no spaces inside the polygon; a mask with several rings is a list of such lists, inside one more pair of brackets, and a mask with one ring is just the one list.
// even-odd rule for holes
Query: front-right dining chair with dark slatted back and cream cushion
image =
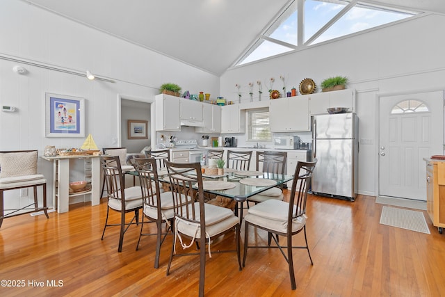
{"label": "front-right dining chair with dark slatted back and cream cushion", "polygon": [[[306,201],[307,191],[309,189],[312,172],[316,166],[316,160],[313,162],[298,162],[293,176],[293,184],[289,202],[281,200],[269,199],[250,207],[248,214],[244,217],[245,233],[244,233],[244,255],[243,266],[248,254],[248,248],[279,248],[289,265],[289,276],[291,279],[291,288],[296,289],[295,275],[293,272],[293,248],[305,248],[312,262],[309,246],[307,245],[306,236]],[[298,187],[298,188],[297,188]],[[267,246],[249,246],[249,226],[257,227],[257,230],[266,230],[268,232]],[[293,246],[292,236],[301,231],[305,234],[305,246]],[[281,246],[277,236],[286,237],[286,245]],[[276,246],[271,246],[271,239],[275,241]],[[257,241],[259,242],[259,241]],[[261,244],[261,243],[260,243]],[[287,253],[285,252],[285,250]],[[287,254],[287,255],[286,255]]]}

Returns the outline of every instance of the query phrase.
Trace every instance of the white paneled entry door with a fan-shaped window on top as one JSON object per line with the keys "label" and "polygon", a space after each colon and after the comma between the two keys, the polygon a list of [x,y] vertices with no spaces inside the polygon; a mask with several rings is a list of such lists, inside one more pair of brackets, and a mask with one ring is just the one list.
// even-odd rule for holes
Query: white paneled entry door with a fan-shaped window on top
{"label": "white paneled entry door with a fan-shaped window on top", "polygon": [[444,91],[380,97],[379,195],[426,200],[423,158],[444,154]]}

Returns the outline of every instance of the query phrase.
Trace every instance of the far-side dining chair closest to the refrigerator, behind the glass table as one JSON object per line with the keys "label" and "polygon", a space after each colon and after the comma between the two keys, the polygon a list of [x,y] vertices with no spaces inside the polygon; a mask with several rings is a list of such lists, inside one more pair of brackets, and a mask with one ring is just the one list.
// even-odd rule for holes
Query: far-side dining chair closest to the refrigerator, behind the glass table
{"label": "far-side dining chair closest to the refrigerator, behind the glass table", "polygon": [[[276,175],[284,175],[286,172],[287,152],[257,152],[257,170]],[[248,202],[255,204],[268,199],[283,200],[283,186],[269,188],[257,195],[248,198]]]}

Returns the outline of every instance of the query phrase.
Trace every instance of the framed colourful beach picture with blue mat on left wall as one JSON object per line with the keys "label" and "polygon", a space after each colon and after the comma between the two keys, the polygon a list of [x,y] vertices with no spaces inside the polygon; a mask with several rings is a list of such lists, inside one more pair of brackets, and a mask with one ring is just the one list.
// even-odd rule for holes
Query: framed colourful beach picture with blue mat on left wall
{"label": "framed colourful beach picture with blue mat on left wall", "polygon": [[85,99],[45,93],[45,136],[85,137]]}

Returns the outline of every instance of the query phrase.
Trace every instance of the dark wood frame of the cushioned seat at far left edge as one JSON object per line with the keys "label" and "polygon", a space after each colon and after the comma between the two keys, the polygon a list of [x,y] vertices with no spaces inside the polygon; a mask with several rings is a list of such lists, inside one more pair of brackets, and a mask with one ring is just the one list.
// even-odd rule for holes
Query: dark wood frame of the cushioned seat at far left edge
{"label": "dark wood frame of the cushioned seat at far left edge", "polygon": [[[8,153],[19,153],[19,152],[38,152],[38,150],[9,150],[9,151],[0,151],[0,153],[2,154],[8,154]],[[1,171],[1,168],[0,168]],[[43,191],[43,207],[39,207],[38,206],[38,195],[37,195],[37,187],[38,186],[42,186],[42,191]],[[4,201],[3,201],[3,192],[5,191],[10,191],[10,190],[16,190],[19,188],[33,188],[33,194],[34,194],[34,202],[26,205],[26,207],[22,207],[19,209],[4,209]],[[29,207],[31,207],[31,205],[34,205],[34,207],[31,209]],[[27,210],[25,212],[20,212],[19,214],[17,214],[18,211],[21,210]],[[4,213],[4,211],[12,211],[9,214]],[[31,186],[17,186],[17,187],[13,187],[13,188],[2,188],[0,189],[0,227],[1,224],[3,224],[3,218],[9,218],[11,216],[19,216],[21,214],[29,214],[31,212],[37,212],[37,211],[43,211],[44,215],[47,216],[47,218],[49,218],[48,216],[48,207],[47,207],[47,183],[40,183],[40,184],[33,184]]]}

